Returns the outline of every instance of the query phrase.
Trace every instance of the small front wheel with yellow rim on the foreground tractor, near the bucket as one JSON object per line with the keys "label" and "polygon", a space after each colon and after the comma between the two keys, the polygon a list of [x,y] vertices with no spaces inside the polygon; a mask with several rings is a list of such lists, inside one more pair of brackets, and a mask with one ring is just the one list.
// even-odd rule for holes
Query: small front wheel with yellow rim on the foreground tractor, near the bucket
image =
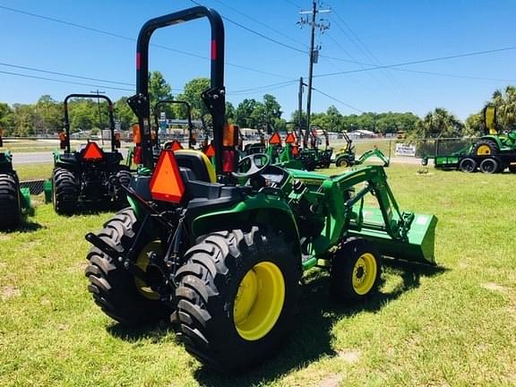
{"label": "small front wheel with yellow rim on the foreground tractor, near the bucket", "polygon": [[371,242],[350,238],[333,256],[331,292],[347,303],[362,301],[380,284],[382,255]]}

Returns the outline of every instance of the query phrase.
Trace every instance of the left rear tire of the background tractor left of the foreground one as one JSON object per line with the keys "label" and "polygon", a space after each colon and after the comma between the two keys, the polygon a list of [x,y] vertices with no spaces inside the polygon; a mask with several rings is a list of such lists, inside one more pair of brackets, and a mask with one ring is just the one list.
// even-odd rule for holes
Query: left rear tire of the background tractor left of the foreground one
{"label": "left rear tire of the background tractor left of the foreground one", "polygon": [[58,214],[70,215],[79,200],[79,185],[72,171],[55,168],[52,174],[52,203]]}

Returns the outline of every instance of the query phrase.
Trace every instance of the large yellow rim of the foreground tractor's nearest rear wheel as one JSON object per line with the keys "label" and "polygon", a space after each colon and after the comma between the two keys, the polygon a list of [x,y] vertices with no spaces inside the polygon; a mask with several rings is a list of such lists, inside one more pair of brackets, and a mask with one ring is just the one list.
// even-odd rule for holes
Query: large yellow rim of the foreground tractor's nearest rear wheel
{"label": "large yellow rim of the foreground tractor's nearest rear wheel", "polygon": [[285,301],[285,280],[272,262],[260,262],[247,271],[238,286],[233,306],[236,331],[244,340],[260,340],[280,318]]}

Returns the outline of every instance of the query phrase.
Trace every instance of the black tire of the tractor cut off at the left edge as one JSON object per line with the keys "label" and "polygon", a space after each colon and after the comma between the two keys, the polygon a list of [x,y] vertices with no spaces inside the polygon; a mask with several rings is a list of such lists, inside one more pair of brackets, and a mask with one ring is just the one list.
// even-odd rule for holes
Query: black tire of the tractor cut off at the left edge
{"label": "black tire of the tractor cut off at the left edge", "polygon": [[20,186],[12,174],[0,174],[0,229],[16,228],[22,222]]}

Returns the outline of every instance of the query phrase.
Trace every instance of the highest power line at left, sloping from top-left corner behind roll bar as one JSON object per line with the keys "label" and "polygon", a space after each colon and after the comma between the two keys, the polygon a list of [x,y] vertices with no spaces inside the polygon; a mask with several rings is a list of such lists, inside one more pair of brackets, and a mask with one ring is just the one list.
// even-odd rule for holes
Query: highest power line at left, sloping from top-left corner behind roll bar
{"label": "highest power line at left, sloping from top-left corner behind roll bar", "polygon": [[[74,22],[66,22],[66,21],[63,21],[63,20],[60,20],[60,19],[56,19],[56,18],[53,18],[53,17],[45,16],[45,15],[41,15],[41,14],[38,14],[38,13],[30,13],[30,12],[27,12],[27,11],[22,11],[22,10],[11,8],[11,7],[6,7],[4,5],[0,5],[0,9],[3,9],[5,11],[10,11],[10,12],[13,12],[13,13],[21,13],[21,14],[26,15],[26,16],[38,18],[38,19],[41,19],[41,20],[46,20],[46,21],[49,21],[49,22],[56,22],[56,23],[59,23],[59,24],[64,24],[64,25],[75,27],[75,28],[79,28],[79,29],[82,29],[82,30],[89,30],[89,31],[92,31],[92,32],[96,32],[96,33],[99,33],[99,34],[102,34],[102,35],[107,35],[107,36],[110,36],[110,37],[113,37],[113,38],[117,38],[117,39],[124,39],[124,40],[127,40],[127,41],[133,41],[133,42],[136,41],[136,39],[133,39],[133,38],[130,38],[130,37],[126,37],[124,35],[120,35],[120,34],[117,34],[117,33],[114,33],[114,32],[110,32],[110,31],[107,31],[107,30],[99,30],[99,29],[96,29],[96,28],[92,28],[92,27],[85,26],[85,25],[78,24],[78,23],[74,23]],[[208,56],[201,56],[201,55],[198,55],[198,54],[193,54],[191,52],[183,51],[183,50],[172,48],[172,47],[167,47],[167,46],[162,46],[162,45],[157,45],[157,44],[152,44],[152,43],[150,44],[150,46],[166,49],[168,51],[176,52],[177,54],[182,54],[182,55],[185,55],[185,56],[192,56],[192,57],[196,57],[196,58],[200,58],[200,59],[204,59],[204,60],[211,60],[211,58],[209,58]],[[304,52],[304,51],[302,51],[302,52]],[[278,78],[290,79],[290,77],[287,77],[286,75],[281,75],[281,74],[277,74],[277,73],[270,73],[270,72],[254,69],[252,67],[247,67],[247,66],[241,65],[241,64],[233,64],[233,63],[230,63],[230,62],[226,62],[226,64],[228,66],[240,68],[242,70],[250,71],[250,72],[253,72],[253,73],[262,73],[262,74],[265,74],[265,75],[271,75],[271,76],[278,77]]]}

